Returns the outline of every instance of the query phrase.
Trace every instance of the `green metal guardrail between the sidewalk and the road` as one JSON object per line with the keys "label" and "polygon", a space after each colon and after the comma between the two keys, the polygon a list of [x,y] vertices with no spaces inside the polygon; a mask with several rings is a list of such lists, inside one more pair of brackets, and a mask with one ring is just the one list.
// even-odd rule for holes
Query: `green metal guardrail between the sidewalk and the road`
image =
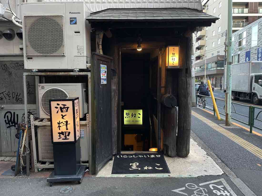
{"label": "green metal guardrail between the sidewalk and the road", "polygon": [[[200,105],[200,104],[198,103],[198,97],[200,97],[200,96],[201,96],[201,97],[209,97],[209,98],[212,99],[212,97],[210,97],[210,96],[205,96],[205,95],[196,94],[196,107],[197,107],[197,105],[202,106],[202,105]],[[225,99],[220,99],[220,98],[216,98],[216,97],[215,97],[216,103],[217,103],[217,100],[225,101]],[[213,109],[210,109],[209,107],[206,107],[206,108],[212,110],[212,111],[214,112],[214,116],[215,116],[216,113],[215,113],[214,105],[211,104],[211,103],[208,103],[207,99],[206,99],[206,104],[213,106]],[[249,108],[248,116],[247,116],[247,115],[244,115],[244,114],[241,114],[241,113],[238,113],[237,110],[236,110],[235,105],[241,105],[241,106],[248,107],[248,108]],[[262,131],[262,128],[257,127],[257,126],[254,125],[254,124],[255,124],[255,123],[254,123],[255,120],[257,120],[257,121],[259,121],[259,122],[262,122],[262,118],[261,118],[261,119],[258,119],[258,117],[259,117],[260,114],[261,114],[261,116],[262,116],[262,108],[261,108],[261,107],[250,106],[250,105],[245,105],[245,104],[236,103],[236,102],[232,102],[232,106],[233,106],[233,108],[234,108],[234,111],[231,111],[231,113],[235,113],[235,114],[238,114],[238,115],[240,115],[240,116],[247,117],[247,118],[248,118],[248,123],[246,123],[246,122],[244,122],[244,121],[242,121],[242,120],[239,120],[239,119],[237,119],[237,118],[231,117],[232,119],[234,119],[234,120],[236,120],[236,121],[238,121],[238,122],[241,122],[241,123],[243,123],[243,124],[246,124],[246,125],[250,126],[250,128],[249,128],[249,132],[250,132],[250,133],[252,133],[253,127]],[[217,106],[217,107],[218,107],[218,108],[221,108],[221,109],[225,109],[225,105],[224,105],[223,108],[222,108],[222,107],[219,107],[219,106]],[[258,112],[258,114],[256,115],[256,117],[255,117],[255,109],[260,109],[260,111]],[[222,114],[222,115],[224,115],[224,116],[226,116],[226,114],[223,114],[223,113],[221,113],[221,112],[219,112],[219,113]]]}

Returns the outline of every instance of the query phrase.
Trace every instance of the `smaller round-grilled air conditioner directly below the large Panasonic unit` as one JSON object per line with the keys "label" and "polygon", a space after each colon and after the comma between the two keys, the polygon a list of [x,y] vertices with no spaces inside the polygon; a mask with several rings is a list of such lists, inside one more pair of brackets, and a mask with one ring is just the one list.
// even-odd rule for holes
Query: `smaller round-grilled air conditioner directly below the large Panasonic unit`
{"label": "smaller round-grilled air conditioner directly below the large Panasonic unit", "polygon": [[49,100],[62,97],[79,97],[79,114],[88,112],[85,83],[38,84],[40,118],[50,118]]}

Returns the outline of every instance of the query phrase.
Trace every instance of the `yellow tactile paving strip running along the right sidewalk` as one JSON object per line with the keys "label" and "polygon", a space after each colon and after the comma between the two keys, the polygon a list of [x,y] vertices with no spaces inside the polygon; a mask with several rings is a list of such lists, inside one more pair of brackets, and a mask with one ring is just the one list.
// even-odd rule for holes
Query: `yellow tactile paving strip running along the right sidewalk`
{"label": "yellow tactile paving strip running along the right sidewalk", "polygon": [[208,120],[207,118],[197,114],[196,112],[192,111],[192,115],[196,118],[202,120],[204,123],[208,124],[211,128],[215,129],[216,131],[220,132],[221,134],[225,135],[232,141],[236,142],[243,148],[247,149],[252,154],[256,155],[260,159],[262,159],[262,149],[256,147],[252,143],[249,143],[248,141],[243,140],[241,137],[238,137],[237,135],[231,133],[230,131],[227,131],[226,129],[222,128],[221,126],[213,123],[211,120]]}

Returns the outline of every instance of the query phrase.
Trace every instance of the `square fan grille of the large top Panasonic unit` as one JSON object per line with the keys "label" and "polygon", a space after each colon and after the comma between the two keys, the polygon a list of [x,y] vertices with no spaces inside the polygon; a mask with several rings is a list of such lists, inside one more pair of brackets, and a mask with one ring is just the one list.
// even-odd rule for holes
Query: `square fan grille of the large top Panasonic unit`
{"label": "square fan grille of the large top Panasonic unit", "polygon": [[27,56],[65,56],[63,15],[24,16]]}

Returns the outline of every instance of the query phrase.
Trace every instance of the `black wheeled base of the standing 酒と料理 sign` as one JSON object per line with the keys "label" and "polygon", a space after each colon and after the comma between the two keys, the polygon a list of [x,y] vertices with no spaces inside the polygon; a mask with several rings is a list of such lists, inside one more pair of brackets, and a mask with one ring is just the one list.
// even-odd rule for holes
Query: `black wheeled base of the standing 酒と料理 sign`
{"label": "black wheeled base of the standing \u9152\u3068\u6599\u7406 sign", "polygon": [[47,178],[47,182],[49,182],[49,186],[53,185],[53,182],[68,182],[68,181],[78,181],[81,184],[83,176],[85,174],[86,165],[81,165],[76,175],[62,175],[55,176],[54,171]]}

